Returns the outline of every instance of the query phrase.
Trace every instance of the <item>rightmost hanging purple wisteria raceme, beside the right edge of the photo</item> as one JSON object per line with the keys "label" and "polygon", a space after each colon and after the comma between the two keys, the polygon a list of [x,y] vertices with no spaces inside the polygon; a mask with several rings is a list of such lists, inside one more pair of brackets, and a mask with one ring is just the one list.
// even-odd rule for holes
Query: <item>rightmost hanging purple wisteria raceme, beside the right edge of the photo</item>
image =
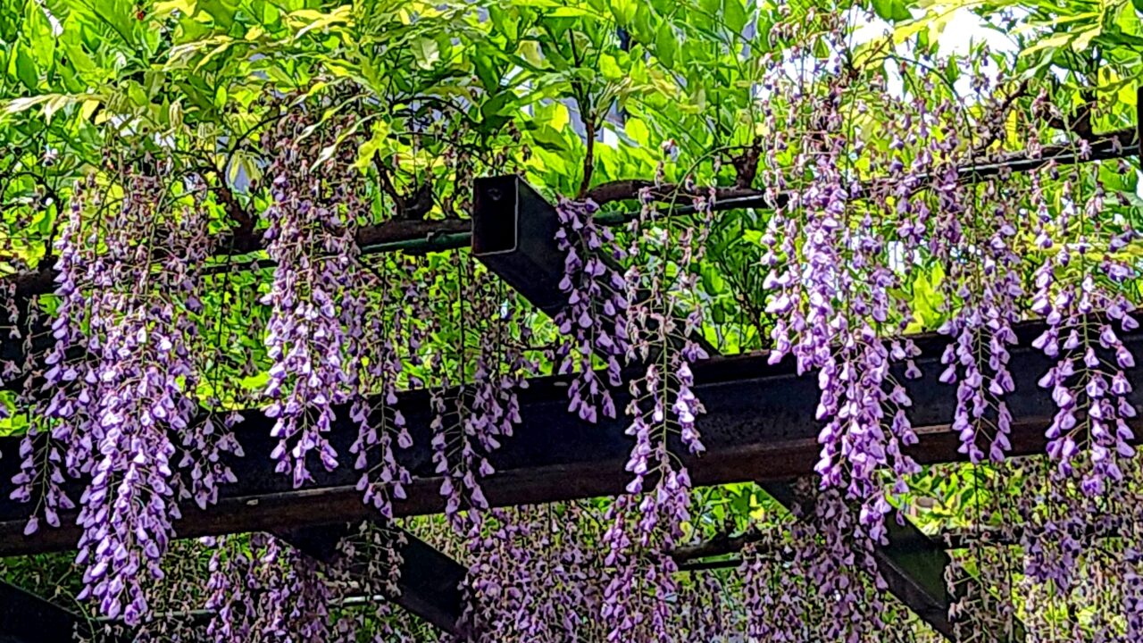
{"label": "rightmost hanging purple wisteria raceme, beside the right edge of the photo", "polygon": [[[1105,193],[1098,176],[1085,199],[1085,177],[1072,170],[1058,184],[1060,204],[1052,208],[1042,183],[1045,177],[1058,180],[1060,172],[1050,162],[1041,172],[1033,181],[1032,204],[1036,244],[1046,257],[1033,275],[1031,308],[1044,316],[1047,330],[1032,346],[1055,360],[1039,384],[1052,391],[1057,412],[1046,431],[1049,463],[1039,476],[1041,500],[1022,499],[1018,505],[1028,525],[1021,535],[1024,573],[1038,610],[1047,609],[1040,602],[1053,596],[1100,592],[1088,587],[1102,578],[1093,570],[1105,556],[1094,540],[1105,523],[1121,521],[1119,514],[1134,506],[1130,498],[1138,484],[1135,436],[1128,424],[1137,413],[1129,399],[1135,358],[1119,336],[1138,327],[1126,297],[1127,281],[1136,272],[1119,254],[1136,233],[1116,232],[1114,221],[1103,215]],[[1122,587],[1128,627],[1138,619],[1138,605],[1129,600],[1132,586],[1121,586],[1130,578],[1133,551],[1125,541],[1111,563],[1124,574],[1114,585],[1117,590]],[[1096,606],[1097,629],[1120,618],[1103,620],[1106,604]]]}

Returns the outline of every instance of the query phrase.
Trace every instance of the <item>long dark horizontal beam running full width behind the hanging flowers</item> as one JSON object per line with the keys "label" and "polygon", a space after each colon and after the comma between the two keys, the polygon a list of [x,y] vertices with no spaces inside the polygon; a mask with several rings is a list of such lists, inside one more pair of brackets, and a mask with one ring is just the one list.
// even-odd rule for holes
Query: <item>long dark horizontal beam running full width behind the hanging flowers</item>
{"label": "long dark horizontal beam running full width behind the hanging flowers", "polygon": [[[1055,414],[1050,396],[1037,386],[1052,364],[1030,348],[1041,330],[1039,323],[1018,326],[1020,346],[1012,351],[1016,392],[1009,396],[1008,406],[1015,418],[1014,455],[1041,453],[1046,442],[1044,430]],[[1125,341],[1136,355],[1143,355],[1143,333],[1130,333]],[[922,350],[917,362],[925,375],[909,382],[909,391],[913,398],[911,418],[920,440],[908,452],[920,463],[962,460],[957,434],[950,428],[956,387],[936,380],[948,339],[922,335],[917,342]],[[696,485],[784,481],[813,473],[820,430],[814,419],[818,397],[816,378],[797,376],[789,360],[768,365],[767,357],[760,352],[714,358],[693,368],[695,394],[708,410],[698,419],[706,453],[684,458]],[[1143,367],[1132,368],[1128,375],[1143,380]],[[623,408],[629,399],[626,392],[616,391],[615,397],[617,407]],[[1143,388],[1132,394],[1130,402],[1136,407],[1143,406]],[[528,389],[520,391],[520,405],[522,426],[491,455],[497,473],[483,483],[485,494],[494,506],[623,492],[629,482],[623,466],[632,445],[624,435],[625,418],[589,424],[567,413],[566,378],[533,380]],[[432,463],[429,395],[402,394],[399,407],[409,422],[415,445],[399,452],[398,458],[415,479],[408,485],[408,499],[397,503],[395,514],[440,513],[443,499]],[[352,467],[317,471],[313,485],[293,489],[287,476],[274,473],[269,455],[275,444],[270,437],[273,421],[257,411],[245,416],[237,435],[246,458],[231,462],[241,482],[225,487],[218,505],[206,511],[192,506],[184,508],[183,519],[175,525],[179,537],[274,531],[375,517],[354,487],[359,474]],[[1138,421],[1134,424],[1137,431],[1141,426]],[[354,437],[355,428],[347,413],[339,413],[330,434],[334,446],[347,453]],[[16,453],[17,443],[17,438],[0,438],[0,452]],[[0,459],[0,481],[10,479],[17,466],[16,458]],[[78,499],[78,493],[74,497]],[[74,548],[79,531],[66,516],[63,527],[41,529],[32,537],[24,537],[29,509],[27,505],[8,500],[7,493],[0,494],[0,556]]]}

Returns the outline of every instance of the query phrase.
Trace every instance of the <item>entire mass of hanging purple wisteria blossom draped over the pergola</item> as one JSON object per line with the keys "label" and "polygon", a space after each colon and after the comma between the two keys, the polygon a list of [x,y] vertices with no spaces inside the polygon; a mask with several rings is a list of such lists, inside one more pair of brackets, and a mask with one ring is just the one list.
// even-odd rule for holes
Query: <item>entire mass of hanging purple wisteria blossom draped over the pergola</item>
{"label": "entire mass of hanging purple wisteria blossom draped over the pergola", "polygon": [[[922,63],[888,45],[858,59],[854,13],[783,7],[770,27],[788,46],[758,54],[749,135],[720,135],[697,159],[665,142],[654,181],[607,198],[638,206],[629,225],[601,222],[610,213],[593,197],[606,191],[590,188],[604,164],[589,161],[581,195],[553,199],[566,305],[552,319],[471,254],[367,252],[377,225],[455,224],[473,167],[503,170],[523,148],[514,125],[491,162],[459,146],[438,159],[456,183],[443,197],[441,168],[418,145],[445,128],[424,126],[419,108],[399,122],[408,132],[392,133],[414,150],[410,164],[378,152],[389,125],[370,138],[333,103],[318,113],[267,100],[279,113],[251,130],[259,159],[242,189],[213,159],[109,152],[54,204],[43,251],[54,291],[29,297],[0,281],[10,394],[0,422],[19,434],[5,495],[26,506],[23,535],[73,523],[77,597],[99,622],[166,636],[155,605],[177,585],[167,577],[179,519],[241,486],[242,423],[261,413],[287,484],[352,468],[346,486],[355,481],[376,516],[333,557],[288,531],[199,541],[207,580],[187,602],[206,616],[195,634],[215,641],[423,640],[394,608],[414,534],[464,565],[458,640],[886,640],[909,617],[876,553],[922,484],[938,497],[927,501],[972,505],[977,535],[1010,546],[952,556],[960,632],[1010,633],[1031,614],[1044,641],[1140,636],[1132,347],[1143,246],[1124,214],[1135,167],[1092,158],[1090,132],[1063,132],[1030,135],[1032,160],[1071,145],[1080,162],[974,176],[965,168],[1007,153],[1009,117],[1038,133],[1065,129],[1040,121],[1068,114],[980,61]],[[945,97],[956,80],[929,69],[937,62],[972,73],[978,105]],[[531,151],[519,156],[514,169],[533,170]],[[724,216],[727,195],[767,207]],[[1109,207],[1116,199],[1125,207]],[[718,235],[749,247],[745,283],[757,277],[750,295],[766,301],[756,318],[727,322],[725,309],[746,310],[729,300],[745,297],[704,281],[725,249]],[[240,244],[253,263],[218,259]],[[235,317],[248,332],[224,334]],[[741,529],[734,516],[714,524],[690,470],[706,451],[696,373],[734,324],[744,339],[732,351],[765,348],[773,366],[817,380],[817,476],[800,482],[789,515],[736,509],[770,531],[737,554],[734,574],[692,573],[680,548]],[[943,351],[922,355],[913,335],[924,331]],[[1034,378],[1014,372],[1017,352],[1050,364]],[[543,422],[523,416],[520,391],[549,376],[567,386],[568,413],[598,430],[622,424],[626,484],[606,502],[499,507],[489,490],[503,445]],[[948,384],[967,466],[935,475],[914,460],[932,430],[913,426],[917,380]],[[1045,458],[1029,465],[1012,458],[1016,412],[1036,410],[1012,400],[1034,388],[1052,416]],[[949,498],[933,482],[942,476],[970,478],[972,502]],[[1006,476],[1021,493],[997,482]],[[402,517],[426,487],[443,519]],[[994,617],[972,620],[973,605]],[[1074,617],[1082,609],[1094,616]]]}

